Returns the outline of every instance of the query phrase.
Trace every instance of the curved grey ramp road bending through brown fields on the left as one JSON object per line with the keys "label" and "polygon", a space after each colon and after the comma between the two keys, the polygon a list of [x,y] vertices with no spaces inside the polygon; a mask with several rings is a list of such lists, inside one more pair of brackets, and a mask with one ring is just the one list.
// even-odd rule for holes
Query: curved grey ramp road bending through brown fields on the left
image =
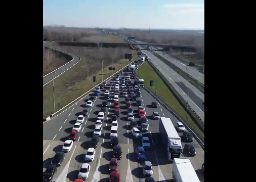
{"label": "curved grey ramp road bending through brown fields on the left", "polygon": [[[57,49],[56,49],[57,50]],[[63,52],[61,50],[58,50],[59,52],[62,52],[64,54],[68,54],[66,52]],[[57,70],[55,70],[55,73],[50,73],[49,75],[42,77],[42,85],[45,85],[46,83],[48,83],[49,81],[51,81],[53,78],[59,76],[61,73],[63,73],[64,71],[66,71],[67,69],[69,69],[70,67],[72,67],[74,64],[76,64],[77,62],[79,62],[80,58],[76,55],[73,54],[68,54],[70,56],[72,56],[74,59],[71,61],[69,61],[66,65],[58,68]]]}

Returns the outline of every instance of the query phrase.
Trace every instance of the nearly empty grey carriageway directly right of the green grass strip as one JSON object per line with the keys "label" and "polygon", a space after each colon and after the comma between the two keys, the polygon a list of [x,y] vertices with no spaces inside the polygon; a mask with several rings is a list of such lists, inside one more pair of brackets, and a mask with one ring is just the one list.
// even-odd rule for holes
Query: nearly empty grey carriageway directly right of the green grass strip
{"label": "nearly empty grey carriageway directly right of the green grass strip", "polygon": [[[142,49],[139,46],[140,49]],[[143,50],[143,52],[149,56],[150,61],[156,65],[157,69],[164,75],[164,77],[172,84],[177,92],[185,99],[185,101],[189,100],[189,106],[195,111],[197,115],[204,121],[204,94],[201,93],[194,85],[189,84],[189,82],[175,72],[172,68],[164,64],[161,60],[155,57],[149,51]],[[188,87],[189,86],[189,87]]]}

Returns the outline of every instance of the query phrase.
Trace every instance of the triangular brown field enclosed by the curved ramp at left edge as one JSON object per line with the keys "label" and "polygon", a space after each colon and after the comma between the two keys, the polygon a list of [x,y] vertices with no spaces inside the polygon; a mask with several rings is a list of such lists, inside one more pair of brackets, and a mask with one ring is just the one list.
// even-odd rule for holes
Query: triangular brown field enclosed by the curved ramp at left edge
{"label": "triangular brown field enclosed by the curved ramp at left edge", "polygon": [[64,54],[47,49],[43,46],[42,51],[42,76],[56,70],[67,62],[71,61],[71,57]]}

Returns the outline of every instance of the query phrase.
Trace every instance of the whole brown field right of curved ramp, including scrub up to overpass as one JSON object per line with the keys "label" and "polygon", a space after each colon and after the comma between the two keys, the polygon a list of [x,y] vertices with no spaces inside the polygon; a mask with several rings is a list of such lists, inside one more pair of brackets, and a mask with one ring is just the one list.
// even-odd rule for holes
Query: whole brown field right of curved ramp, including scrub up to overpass
{"label": "whole brown field right of curved ramp, including scrub up to overpass", "polygon": [[[102,61],[103,61],[103,80],[112,75],[112,70],[108,67],[112,65],[119,70],[129,64],[129,60],[124,60],[125,53],[134,54],[134,59],[138,57],[136,51],[129,49],[97,49],[97,48],[75,48],[68,47],[69,52],[77,54],[81,61],[70,68],[64,74],[54,80],[55,90],[55,112],[86,93],[95,86],[93,75],[96,76],[96,84],[102,81]],[[72,49],[72,50],[70,50]],[[66,50],[67,51],[67,50]],[[90,62],[88,62],[90,61]],[[87,70],[89,71],[87,74]],[[88,77],[89,76],[89,77]],[[88,82],[88,85],[87,85]],[[54,112],[53,83],[43,87],[43,119]]]}

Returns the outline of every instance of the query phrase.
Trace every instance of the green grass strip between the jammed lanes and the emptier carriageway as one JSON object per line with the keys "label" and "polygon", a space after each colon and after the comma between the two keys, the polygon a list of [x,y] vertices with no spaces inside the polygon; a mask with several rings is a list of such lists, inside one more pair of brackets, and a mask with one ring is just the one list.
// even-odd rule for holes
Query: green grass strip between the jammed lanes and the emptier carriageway
{"label": "green grass strip between the jammed lanes and the emptier carriageway", "polygon": [[[137,76],[145,80],[145,87],[151,90],[153,94],[155,94],[163,103],[172,109],[183,121],[186,121],[186,111],[184,110],[184,107],[180,104],[180,102],[176,99],[177,97],[171,92],[168,86],[148,62],[145,62],[140,66],[140,68],[137,70]],[[153,86],[151,88],[150,80],[154,80],[154,84],[157,83],[157,87]],[[189,115],[186,124],[204,143],[204,133]]]}

